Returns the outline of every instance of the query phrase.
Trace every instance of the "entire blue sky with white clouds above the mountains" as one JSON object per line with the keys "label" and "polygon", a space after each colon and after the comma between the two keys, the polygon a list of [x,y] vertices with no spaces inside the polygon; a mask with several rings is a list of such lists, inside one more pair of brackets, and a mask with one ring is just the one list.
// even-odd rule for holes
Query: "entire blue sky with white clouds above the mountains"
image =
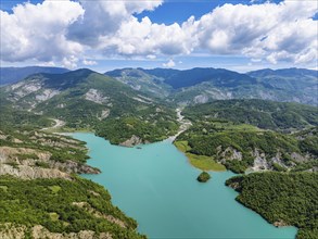
{"label": "entire blue sky with white clouds above the mountains", "polygon": [[1,0],[1,66],[318,67],[316,0]]}

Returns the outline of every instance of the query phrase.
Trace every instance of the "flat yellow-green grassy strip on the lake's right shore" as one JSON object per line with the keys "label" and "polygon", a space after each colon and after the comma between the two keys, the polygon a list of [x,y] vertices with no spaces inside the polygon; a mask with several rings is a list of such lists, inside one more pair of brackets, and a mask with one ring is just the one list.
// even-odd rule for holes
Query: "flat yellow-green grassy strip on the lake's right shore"
{"label": "flat yellow-green grassy strip on the lake's right shore", "polygon": [[226,171],[226,167],[219,163],[216,163],[212,156],[189,153],[191,148],[189,147],[188,141],[175,141],[174,143],[186,154],[192,166],[202,171]]}

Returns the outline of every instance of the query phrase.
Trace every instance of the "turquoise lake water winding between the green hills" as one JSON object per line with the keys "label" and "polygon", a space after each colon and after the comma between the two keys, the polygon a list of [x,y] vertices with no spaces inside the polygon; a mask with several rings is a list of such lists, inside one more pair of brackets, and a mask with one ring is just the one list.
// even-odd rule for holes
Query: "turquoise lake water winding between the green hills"
{"label": "turquoise lake water winding between the green hills", "polygon": [[93,134],[72,136],[87,142],[88,164],[102,171],[82,176],[103,185],[150,238],[295,238],[296,228],[276,228],[234,200],[238,193],[225,186],[233,173],[212,173],[208,183],[198,183],[200,171],[168,141],[137,149]]}

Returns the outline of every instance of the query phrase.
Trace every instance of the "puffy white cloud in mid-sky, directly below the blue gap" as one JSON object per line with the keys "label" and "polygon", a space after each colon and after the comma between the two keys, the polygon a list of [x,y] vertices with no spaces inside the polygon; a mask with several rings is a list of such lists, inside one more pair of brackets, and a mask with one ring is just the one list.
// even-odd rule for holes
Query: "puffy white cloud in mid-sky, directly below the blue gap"
{"label": "puffy white cloud in mid-sky, directly below the blue gap", "polygon": [[149,17],[141,22],[132,17],[116,34],[101,37],[100,48],[123,55],[188,54],[192,51],[188,37],[176,23],[167,26],[152,23]]}

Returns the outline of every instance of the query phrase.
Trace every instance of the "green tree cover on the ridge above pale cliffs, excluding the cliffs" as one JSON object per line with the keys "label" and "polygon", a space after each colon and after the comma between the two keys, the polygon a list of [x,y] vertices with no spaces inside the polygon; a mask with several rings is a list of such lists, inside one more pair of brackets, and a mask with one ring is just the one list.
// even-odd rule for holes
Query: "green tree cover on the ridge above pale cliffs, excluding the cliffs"
{"label": "green tree cover on the ridge above pale cliffs, excluding the cliffs", "polygon": [[[252,152],[255,149],[268,158],[281,152],[287,161],[290,160],[288,155],[291,153],[304,152],[293,136],[264,131],[253,126],[233,125],[229,122],[198,122],[181,134],[175,143],[185,148],[185,141],[188,141],[187,153],[214,158],[215,161],[224,162],[227,168],[236,173],[243,173],[253,165]],[[234,151],[241,153],[241,160],[229,160]]]}

